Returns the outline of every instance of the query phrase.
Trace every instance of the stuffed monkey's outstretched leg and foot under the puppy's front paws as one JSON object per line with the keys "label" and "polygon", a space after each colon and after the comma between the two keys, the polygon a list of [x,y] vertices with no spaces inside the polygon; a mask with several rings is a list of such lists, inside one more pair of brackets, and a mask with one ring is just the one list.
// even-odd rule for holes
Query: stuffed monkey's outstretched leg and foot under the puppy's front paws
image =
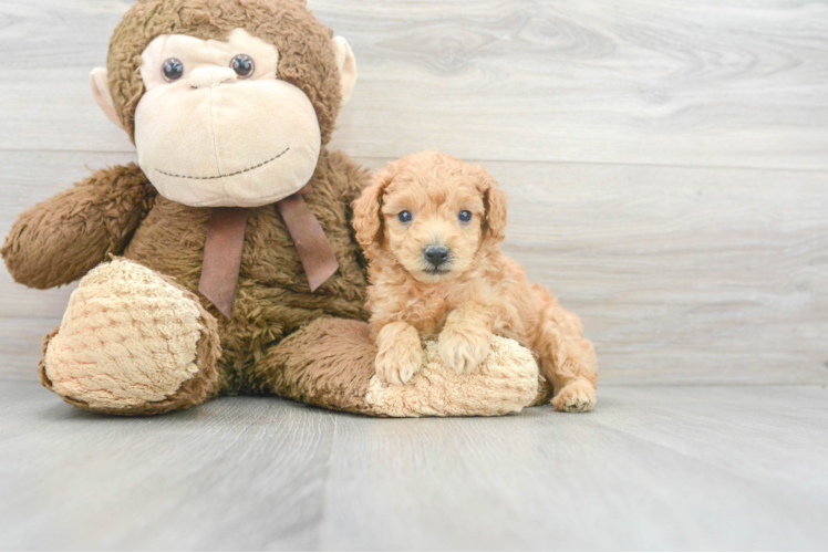
{"label": "stuffed monkey's outstretched leg and foot under the puppy's front paws", "polygon": [[436,342],[424,353],[407,384],[386,384],[374,376],[368,324],[324,317],[273,346],[255,380],[263,394],[384,417],[506,415],[548,394],[531,353],[511,340],[495,337],[489,356],[466,375],[442,364]]}

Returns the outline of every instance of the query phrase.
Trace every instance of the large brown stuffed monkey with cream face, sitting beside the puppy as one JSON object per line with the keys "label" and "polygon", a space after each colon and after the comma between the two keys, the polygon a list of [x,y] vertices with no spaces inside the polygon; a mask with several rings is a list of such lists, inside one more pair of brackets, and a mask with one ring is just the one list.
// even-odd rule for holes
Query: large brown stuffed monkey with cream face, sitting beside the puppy
{"label": "large brown stuffed monkey with cream face, sitting beside the puppy", "polygon": [[2,248],[28,286],[82,279],[44,340],[43,385],[115,415],[240,394],[377,416],[546,399],[531,354],[505,338],[472,375],[426,347],[407,385],[374,378],[350,225],[369,175],[325,147],[355,79],[348,42],[301,0],[134,4],[91,83],[138,164],[23,212]]}

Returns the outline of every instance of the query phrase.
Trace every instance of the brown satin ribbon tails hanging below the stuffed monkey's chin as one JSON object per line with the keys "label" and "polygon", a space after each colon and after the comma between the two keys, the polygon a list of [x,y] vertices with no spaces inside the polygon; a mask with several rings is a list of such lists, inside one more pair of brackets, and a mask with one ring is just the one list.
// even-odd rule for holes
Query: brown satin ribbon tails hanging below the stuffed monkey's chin
{"label": "brown satin ribbon tails hanging below the stuffed monkey's chin", "polygon": [[[299,192],[278,201],[276,206],[299,252],[310,290],[315,292],[337,272],[339,262],[322,226],[302,198],[310,191],[310,185],[306,185]],[[247,208],[214,209],[204,244],[204,265],[198,291],[228,319],[232,313],[232,301],[239,281],[247,215]]]}

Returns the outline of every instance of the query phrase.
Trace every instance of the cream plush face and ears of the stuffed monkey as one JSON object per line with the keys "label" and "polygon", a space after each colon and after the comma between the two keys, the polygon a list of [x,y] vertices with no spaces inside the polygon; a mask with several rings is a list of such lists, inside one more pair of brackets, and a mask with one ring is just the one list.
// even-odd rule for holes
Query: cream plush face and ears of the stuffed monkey
{"label": "cream plush face and ears of the stuffed monkey", "polygon": [[[343,104],[355,81],[353,54],[342,38],[327,42]],[[162,196],[192,207],[257,207],[311,179],[324,132],[318,106],[281,79],[280,54],[277,43],[240,28],[216,39],[165,33],[146,45],[132,131],[138,165]],[[95,98],[123,128],[124,106],[115,106],[110,84],[106,70],[93,71]]]}

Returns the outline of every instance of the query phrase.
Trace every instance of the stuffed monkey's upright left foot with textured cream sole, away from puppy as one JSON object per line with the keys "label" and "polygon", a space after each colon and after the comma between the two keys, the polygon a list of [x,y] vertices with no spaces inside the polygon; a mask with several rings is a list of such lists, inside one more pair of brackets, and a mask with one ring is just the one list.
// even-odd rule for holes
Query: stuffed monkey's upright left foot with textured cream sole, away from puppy
{"label": "stuffed monkey's upright left foot with textured cream sole, away from puppy", "polygon": [[45,342],[43,385],[84,409],[165,413],[200,404],[218,386],[215,317],[193,293],[125,259],[81,281]]}

